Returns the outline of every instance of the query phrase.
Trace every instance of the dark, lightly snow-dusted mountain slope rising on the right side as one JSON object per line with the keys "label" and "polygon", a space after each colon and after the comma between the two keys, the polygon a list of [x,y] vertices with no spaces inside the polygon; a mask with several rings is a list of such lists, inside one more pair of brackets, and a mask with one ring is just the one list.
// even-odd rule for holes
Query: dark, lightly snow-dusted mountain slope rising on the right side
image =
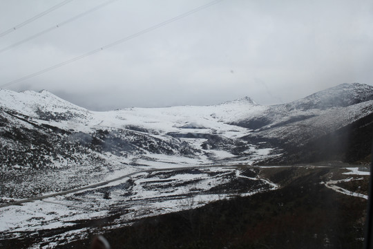
{"label": "dark, lightly snow-dusted mountain slope rising on the right side", "polygon": [[373,86],[341,84],[301,100],[270,106],[237,124],[255,129],[246,140],[266,141],[283,152],[267,163],[356,163],[372,151],[372,113]]}

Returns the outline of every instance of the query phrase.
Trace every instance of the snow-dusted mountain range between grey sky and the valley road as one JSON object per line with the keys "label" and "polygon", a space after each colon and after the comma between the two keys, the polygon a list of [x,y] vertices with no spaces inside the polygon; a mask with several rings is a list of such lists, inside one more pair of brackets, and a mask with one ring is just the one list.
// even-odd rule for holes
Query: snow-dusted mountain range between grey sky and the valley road
{"label": "snow-dusted mountain range between grey sky and the valley road", "polygon": [[[23,196],[144,167],[330,159],[320,157],[315,142],[344,136],[349,126],[358,137],[369,132],[373,86],[341,84],[274,106],[246,97],[207,107],[106,112],[88,111],[48,91],[1,89],[0,110],[1,195]],[[363,144],[354,142],[355,151],[363,151],[354,159],[370,154]],[[337,152],[333,159],[350,160]],[[38,178],[45,183],[30,190],[28,183]]]}

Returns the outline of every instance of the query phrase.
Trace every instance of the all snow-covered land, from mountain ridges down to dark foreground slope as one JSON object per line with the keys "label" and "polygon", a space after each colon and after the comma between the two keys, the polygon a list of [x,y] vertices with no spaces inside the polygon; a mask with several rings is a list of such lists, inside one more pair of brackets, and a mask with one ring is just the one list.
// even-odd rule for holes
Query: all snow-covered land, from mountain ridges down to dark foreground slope
{"label": "all snow-covered land, from mountain ridges down to dark foreground slope", "polygon": [[[305,156],[313,162],[323,154],[319,145],[346,127],[363,139],[372,115],[373,86],[357,83],[273,106],[246,97],[206,107],[102,112],[48,91],[0,89],[0,240],[27,234],[39,238],[35,248],[55,245],[86,236],[91,221],[107,219],[114,228],[276,190],[281,186],[259,176],[253,165],[302,163]],[[353,148],[366,149],[363,144]],[[346,169],[349,178],[323,184],[367,199],[337,186],[369,175]],[[79,191],[57,194],[69,190]],[[55,228],[58,235],[50,233]],[[46,235],[39,237],[39,231]]]}

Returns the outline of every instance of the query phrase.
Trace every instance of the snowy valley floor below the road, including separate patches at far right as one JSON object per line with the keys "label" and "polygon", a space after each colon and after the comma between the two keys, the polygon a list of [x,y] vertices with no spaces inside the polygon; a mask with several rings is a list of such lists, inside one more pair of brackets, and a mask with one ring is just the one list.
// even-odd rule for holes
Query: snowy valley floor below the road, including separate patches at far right
{"label": "snowy valley floor below the road, including separate patches at far right", "polygon": [[[305,170],[313,168],[300,167]],[[10,205],[0,209],[0,243],[32,240],[30,248],[41,245],[49,248],[82,239],[94,230],[131,225],[147,216],[190,210],[212,201],[276,190],[280,185],[260,175],[260,170],[283,168],[207,166],[157,169],[135,173],[88,190]],[[325,186],[342,194],[365,198],[364,194],[336,187],[337,183],[362,180],[358,174],[368,174],[354,167],[347,170],[347,178],[330,180],[324,183]]]}

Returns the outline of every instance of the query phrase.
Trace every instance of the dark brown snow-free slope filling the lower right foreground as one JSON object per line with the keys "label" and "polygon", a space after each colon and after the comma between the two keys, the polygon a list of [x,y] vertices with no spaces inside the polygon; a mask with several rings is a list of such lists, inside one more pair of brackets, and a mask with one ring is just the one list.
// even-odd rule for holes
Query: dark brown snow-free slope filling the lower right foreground
{"label": "dark brown snow-free slope filling the lower right foreground", "polygon": [[[284,187],[102,232],[113,248],[361,248],[366,201],[320,184],[340,170],[263,169]],[[90,239],[64,248],[88,247]]]}

